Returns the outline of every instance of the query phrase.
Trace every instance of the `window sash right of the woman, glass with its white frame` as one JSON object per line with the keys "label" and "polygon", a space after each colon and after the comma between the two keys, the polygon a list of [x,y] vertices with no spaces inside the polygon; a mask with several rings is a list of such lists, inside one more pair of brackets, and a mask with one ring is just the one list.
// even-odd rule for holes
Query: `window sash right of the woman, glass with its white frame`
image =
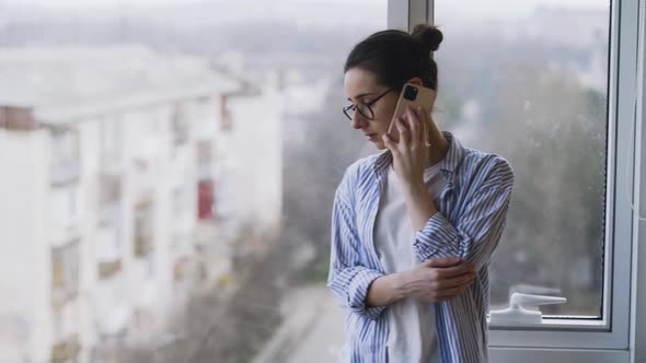
{"label": "window sash right of the woman, glass with its white frame", "polygon": [[491,308],[510,292],[567,298],[542,306],[540,325],[492,321],[492,359],[627,360],[636,2],[428,3],[452,39],[436,54],[440,127],[517,177]]}

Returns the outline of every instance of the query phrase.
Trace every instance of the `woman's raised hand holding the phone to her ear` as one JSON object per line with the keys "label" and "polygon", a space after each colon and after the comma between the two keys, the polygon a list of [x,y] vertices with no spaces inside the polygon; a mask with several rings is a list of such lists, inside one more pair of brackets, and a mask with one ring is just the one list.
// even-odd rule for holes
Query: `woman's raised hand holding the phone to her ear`
{"label": "woman's raised hand holding the phone to her ear", "polygon": [[408,107],[403,117],[397,117],[394,122],[400,132],[400,142],[394,142],[388,133],[382,139],[385,147],[393,155],[393,167],[402,186],[415,189],[424,185],[424,171],[430,163],[424,124],[426,115],[422,107],[413,109]]}

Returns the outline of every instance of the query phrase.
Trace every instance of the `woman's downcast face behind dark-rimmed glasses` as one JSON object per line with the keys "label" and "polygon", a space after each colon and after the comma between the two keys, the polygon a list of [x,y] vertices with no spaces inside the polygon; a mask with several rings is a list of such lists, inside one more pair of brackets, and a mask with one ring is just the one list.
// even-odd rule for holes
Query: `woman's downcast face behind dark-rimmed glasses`
{"label": "woman's downcast face behind dark-rimmed glasses", "polygon": [[[359,68],[353,68],[345,73],[344,85],[349,102],[355,105],[369,104],[388,91],[387,86],[377,82],[374,73]],[[360,130],[380,150],[385,149],[382,137],[388,131],[397,98],[397,92],[392,90],[371,104],[370,109],[374,115],[372,120],[367,119],[359,112],[354,113],[353,128]]]}

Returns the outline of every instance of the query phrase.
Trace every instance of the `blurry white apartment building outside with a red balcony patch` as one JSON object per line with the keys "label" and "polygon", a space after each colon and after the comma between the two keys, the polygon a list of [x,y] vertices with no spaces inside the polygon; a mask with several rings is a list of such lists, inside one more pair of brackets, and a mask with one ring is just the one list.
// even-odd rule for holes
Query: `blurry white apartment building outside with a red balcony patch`
{"label": "blurry white apartment building outside with a red balcony patch", "polygon": [[[0,362],[111,361],[155,344],[191,290],[228,271],[249,198],[268,200],[278,225],[279,138],[231,145],[227,95],[249,91],[205,60],[3,49],[0,80],[0,336],[14,343]],[[279,130],[275,98],[250,93],[240,125],[256,109]],[[273,188],[235,195],[258,139]]]}

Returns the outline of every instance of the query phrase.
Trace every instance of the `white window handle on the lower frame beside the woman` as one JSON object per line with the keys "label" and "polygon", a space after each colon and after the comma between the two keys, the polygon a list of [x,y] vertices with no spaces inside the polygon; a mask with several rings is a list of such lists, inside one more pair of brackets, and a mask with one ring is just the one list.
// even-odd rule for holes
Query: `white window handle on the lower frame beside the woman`
{"label": "white window handle on the lower frame beside the woman", "polygon": [[543,313],[526,307],[563,304],[565,302],[567,302],[567,298],[561,296],[532,295],[515,292],[509,297],[509,307],[489,312],[489,323],[501,325],[541,324]]}

